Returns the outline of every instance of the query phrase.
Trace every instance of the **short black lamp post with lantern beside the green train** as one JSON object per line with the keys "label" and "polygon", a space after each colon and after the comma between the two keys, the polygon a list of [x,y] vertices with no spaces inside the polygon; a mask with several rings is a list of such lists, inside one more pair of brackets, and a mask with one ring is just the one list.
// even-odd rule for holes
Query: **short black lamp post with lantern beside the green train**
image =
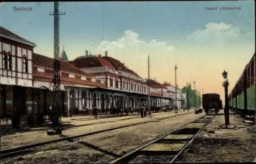
{"label": "short black lamp post with lantern beside the green train", "polygon": [[222,76],[224,78],[224,81],[222,83],[222,86],[225,90],[225,109],[224,109],[224,115],[225,115],[225,125],[227,128],[227,125],[229,124],[229,111],[228,111],[228,96],[227,96],[227,90],[228,90],[228,79],[227,79],[227,72],[224,70],[222,73]]}

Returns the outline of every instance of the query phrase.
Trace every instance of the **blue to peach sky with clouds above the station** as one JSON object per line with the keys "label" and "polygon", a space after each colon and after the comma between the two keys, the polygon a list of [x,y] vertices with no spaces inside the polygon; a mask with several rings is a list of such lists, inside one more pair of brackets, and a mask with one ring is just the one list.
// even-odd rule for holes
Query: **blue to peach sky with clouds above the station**
{"label": "blue to peach sky with clouds above the station", "polygon": [[[53,57],[53,6],[1,3],[0,25],[34,42],[34,52]],[[14,11],[19,7],[32,10]],[[222,100],[224,69],[231,90],[255,53],[254,1],[60,2],[59,10],[66,13],[60,16],[60,52],[64,47],[69,60],[85,50],[108,51],[147,78],[150,55],[151,78],[175,84],[177,64],[180,88],[196,81],[201,93],[219,93]]]}

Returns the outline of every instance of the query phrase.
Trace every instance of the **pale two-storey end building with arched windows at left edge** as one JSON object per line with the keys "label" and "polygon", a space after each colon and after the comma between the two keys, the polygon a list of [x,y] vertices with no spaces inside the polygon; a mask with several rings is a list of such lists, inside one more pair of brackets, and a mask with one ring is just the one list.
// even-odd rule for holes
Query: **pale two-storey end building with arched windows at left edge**
{"label": "pale two-storey end building with arched windows at left edge", "polygon": [[[1,118],[27,114],[31,109],[34,43],[0,27]],[[14,113],[14,114],[13,114]]]}

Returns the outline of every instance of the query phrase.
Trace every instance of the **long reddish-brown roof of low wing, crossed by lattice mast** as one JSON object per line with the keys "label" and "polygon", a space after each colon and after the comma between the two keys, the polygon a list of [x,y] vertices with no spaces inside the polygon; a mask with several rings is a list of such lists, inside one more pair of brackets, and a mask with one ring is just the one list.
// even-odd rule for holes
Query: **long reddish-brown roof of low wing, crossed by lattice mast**
{"label": "long reddish-brown roof of low wing, crossed by lattice mast", "polygon": [[[53,58],[33,53],[33,65],[53,69]],[[75,67],[74,65],[61,60],[60,60],[60,70],[68,73],[86,76],[86,77],[93,77],[92,75],[84,71],[81,71],[81,69]]]}

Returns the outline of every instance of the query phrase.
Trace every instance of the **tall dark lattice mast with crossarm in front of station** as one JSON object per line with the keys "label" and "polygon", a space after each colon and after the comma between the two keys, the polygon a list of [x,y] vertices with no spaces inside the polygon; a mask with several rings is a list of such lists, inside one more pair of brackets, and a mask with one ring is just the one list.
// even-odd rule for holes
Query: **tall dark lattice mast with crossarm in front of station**
{"label": "tall dark lattice mast with crossarm in front of station", "polygon": [[52,125],[54,131],[48,131],[48,135],[61,134],[61,95],[60,95],[60,61],[59,61],[59,15],[66,13],[59,12],[59,3],[54,2],[54,77],[53,77],[53,112]]}

